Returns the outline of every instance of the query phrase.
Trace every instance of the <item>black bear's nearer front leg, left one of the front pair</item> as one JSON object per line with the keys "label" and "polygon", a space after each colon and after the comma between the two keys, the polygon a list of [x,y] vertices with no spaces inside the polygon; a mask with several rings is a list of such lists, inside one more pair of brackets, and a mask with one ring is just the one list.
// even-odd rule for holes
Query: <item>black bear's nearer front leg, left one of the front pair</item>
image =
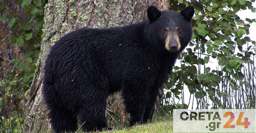
{"label": "black bear's nearer front leg, left one of the front pair", "polygon": [[125,82],[121,94],[124,99],[126,112],[130,113],[130,126],[135,123],[143,124],[146,103],[149,99],[149,90],[143,83]]}

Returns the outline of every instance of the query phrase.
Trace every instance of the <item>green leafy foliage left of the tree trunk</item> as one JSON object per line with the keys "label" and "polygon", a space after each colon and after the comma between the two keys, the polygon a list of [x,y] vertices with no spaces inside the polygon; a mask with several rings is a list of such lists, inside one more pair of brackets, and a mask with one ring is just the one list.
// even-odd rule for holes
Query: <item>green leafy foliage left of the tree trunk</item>
{"label": "green leafy foliage left of the tree trunk", "polygon": [[[45,0],[17,0],[16,6],[22,6],[25,19],[15,14],[0,2],[0,23],[8,19],[8,26],[12,27],[12,36],[9,43],[18,45],[25,50],[20,58],[14,58],[11,70],[3,70],[3,79],[0,82],[0,132],[23,132],[25,120],[26,100],[33,74],[36,69],[36,60],[40,54],[40,42],[43,26],[43,7]],[[3,59],[5,62],[5,58]],[[8,104],[9,103],[9,104]],[[7,115],[5,107],[13,106],[12,116]]]}

